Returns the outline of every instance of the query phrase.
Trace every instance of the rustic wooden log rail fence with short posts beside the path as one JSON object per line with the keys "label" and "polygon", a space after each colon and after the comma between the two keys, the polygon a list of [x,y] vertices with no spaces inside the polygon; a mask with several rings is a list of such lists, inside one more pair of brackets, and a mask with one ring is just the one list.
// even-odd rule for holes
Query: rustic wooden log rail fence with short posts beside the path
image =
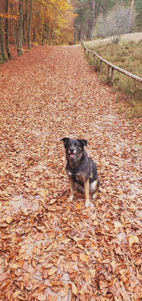
{"label": "rustic wooden log rail fence with short posts beside the path", "polygon": [[89,50],[89,49],[85,46],[83,40],[80,40],[80,44],[81,44],[82,47],[84,48],[84,53],[86,53],[86,51],[88,51],[88,57],[89,57],[89,54],[92,53],[94,57],[97,57],[97,58],[100,60],[100,69],[99,69],[100,72],[102,72],[102,64],[103,64],[103,62],[104,62],[105,64],[108,65],[107,79],[108,79],[110,82],[113,82],[113,79],[114,79],[114,76],[115,76],[115,70],[117,70],[118,72],[121,72],[121,73],[125,74],[126,76],[128,76],[128,77],[130,77],[130,78],[136,80],[137,82],[141,82],[141,83],[142,83],[142,78],[141,78],[141,77],[136,76],[136,75],[134,75],[134,74],[132,74],[132,73],[130,73],[130,72],[128,72],[128,71],[122,69],[122,68],[119,68],[119,67],[117,67],[117,66],[115,66],[115,65],[113,65],[113,64],[111,64],[111,63],[109,63],[109,62],[107,62],[107,61],[104,60],[102,57],[100,57],[97,53],[95,53],[95,51]]}

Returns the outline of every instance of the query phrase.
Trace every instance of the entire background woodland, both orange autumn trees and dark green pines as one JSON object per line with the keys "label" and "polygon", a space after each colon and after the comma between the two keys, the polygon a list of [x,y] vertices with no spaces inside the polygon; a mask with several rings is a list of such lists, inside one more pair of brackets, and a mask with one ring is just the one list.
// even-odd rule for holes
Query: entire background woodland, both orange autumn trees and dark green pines
{"label": "entire background woodland, both orange autumn trees and dark green pines", "polygon": [[135,30],[142,31],[141,0],[1,0],[0,64],[12,59],[11,45],[21,56],[27,46],[92,39],[97,17],[116,4],[134,7]]}

